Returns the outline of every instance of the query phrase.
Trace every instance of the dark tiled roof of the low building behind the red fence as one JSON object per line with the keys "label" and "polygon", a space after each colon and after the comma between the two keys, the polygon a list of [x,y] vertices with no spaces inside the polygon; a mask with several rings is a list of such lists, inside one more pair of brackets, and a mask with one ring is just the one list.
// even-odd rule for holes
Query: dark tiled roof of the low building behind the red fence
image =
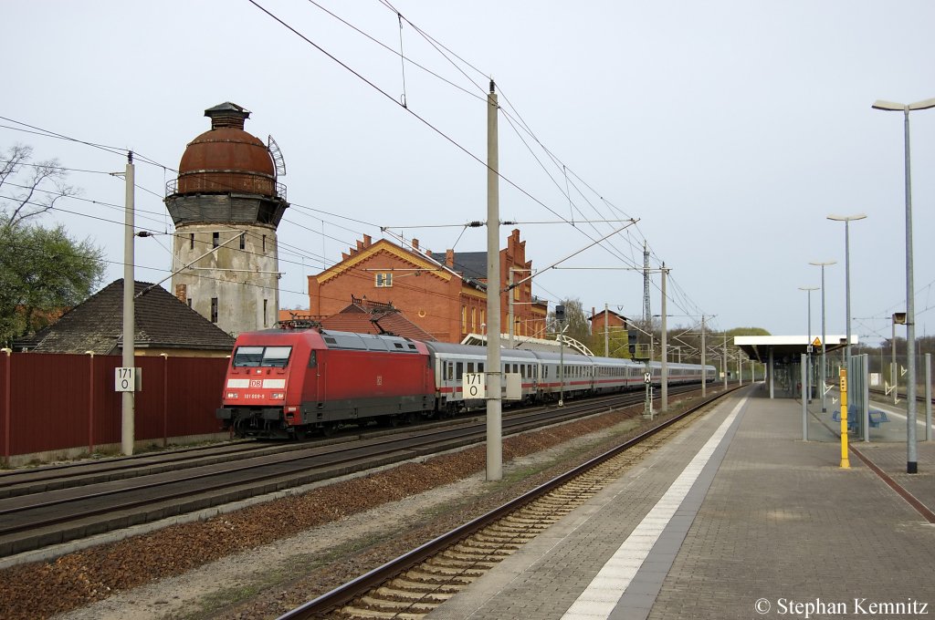
{"label": "dark tiled roof of the low building behind the red fence", "polygon": [[[162,287],[136,282],[134,302],[138,356],[225,357],[234,338]],[[141,294],[142,293],[142,294]],[[17,351],[120,355],[123,280],[115,280],[35,335],[14,343]]]}

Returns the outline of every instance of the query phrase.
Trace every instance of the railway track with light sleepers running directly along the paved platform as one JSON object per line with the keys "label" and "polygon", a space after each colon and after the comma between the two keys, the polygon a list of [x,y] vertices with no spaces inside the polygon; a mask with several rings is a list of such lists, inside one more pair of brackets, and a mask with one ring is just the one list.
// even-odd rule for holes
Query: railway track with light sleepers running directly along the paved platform
{"label": "railway track with light sleepers running directly along the paved platform", "polygon": [[655,425],[490,513],[283,614],[281,619],[422,618],[617,479],[667,441],[689,416],[730,391]]}

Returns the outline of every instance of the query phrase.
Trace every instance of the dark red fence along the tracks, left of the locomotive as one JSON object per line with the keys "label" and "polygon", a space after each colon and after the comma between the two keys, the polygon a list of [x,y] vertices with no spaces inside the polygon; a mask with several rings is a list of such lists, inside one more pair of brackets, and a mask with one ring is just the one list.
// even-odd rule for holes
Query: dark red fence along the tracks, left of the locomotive
{"label": "dark red fence along the tracks, left of the locomotive", "polygon": [[[137,357],[136,439],[162,444],[173,437],[221,431],[227,359]],[[0,354],[0,443],[11,456],[121,442],[121,393],[114,391],[120,356]]]}

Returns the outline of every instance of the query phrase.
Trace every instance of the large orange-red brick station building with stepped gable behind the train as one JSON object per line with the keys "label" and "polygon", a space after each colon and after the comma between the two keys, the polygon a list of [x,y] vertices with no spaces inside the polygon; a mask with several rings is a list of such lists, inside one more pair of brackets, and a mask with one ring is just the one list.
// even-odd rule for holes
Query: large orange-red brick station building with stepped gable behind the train
{"label": "large orange-red brick station building with stepped gable behind the train", "polygon": [[[503,289],[531,273],[525,241],[513,230],[500,250]],[[442,342],[460,342],[468,333],[482,333],[486,324],[486,252],[433,254],[412,240],[401,247],[367,235],[342,255],[342,261],[318,275],[309,275],[309,314],[330,317],[352,299],[392,303],[411,322]],[[507,331],[509,301],[513,298],[516,330],[524,336],[544,337],[548,305],[532,296],[532,283],[500,294],[500,324]]]}

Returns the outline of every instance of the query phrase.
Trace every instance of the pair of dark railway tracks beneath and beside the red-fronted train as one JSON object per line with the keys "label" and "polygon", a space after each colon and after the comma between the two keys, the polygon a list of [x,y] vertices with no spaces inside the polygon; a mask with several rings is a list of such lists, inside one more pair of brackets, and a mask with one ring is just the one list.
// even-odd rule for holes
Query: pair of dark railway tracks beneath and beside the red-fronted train
{"label": "pair of dark railway tracks beneath and beside the red-fronted train", "polygon": [[[504,434],[641,402],[572,402],[504,416]],[[482,418],[340,443],[236,444],[0,477],[0,558],[433,454],[485,439]],[[53,557],[49,555],[48,557]],[[12,558],[7,560],[10,564]],[[32,557],[36,559],[36,557]],[[24,558],[24,561],[26,559]]]}

